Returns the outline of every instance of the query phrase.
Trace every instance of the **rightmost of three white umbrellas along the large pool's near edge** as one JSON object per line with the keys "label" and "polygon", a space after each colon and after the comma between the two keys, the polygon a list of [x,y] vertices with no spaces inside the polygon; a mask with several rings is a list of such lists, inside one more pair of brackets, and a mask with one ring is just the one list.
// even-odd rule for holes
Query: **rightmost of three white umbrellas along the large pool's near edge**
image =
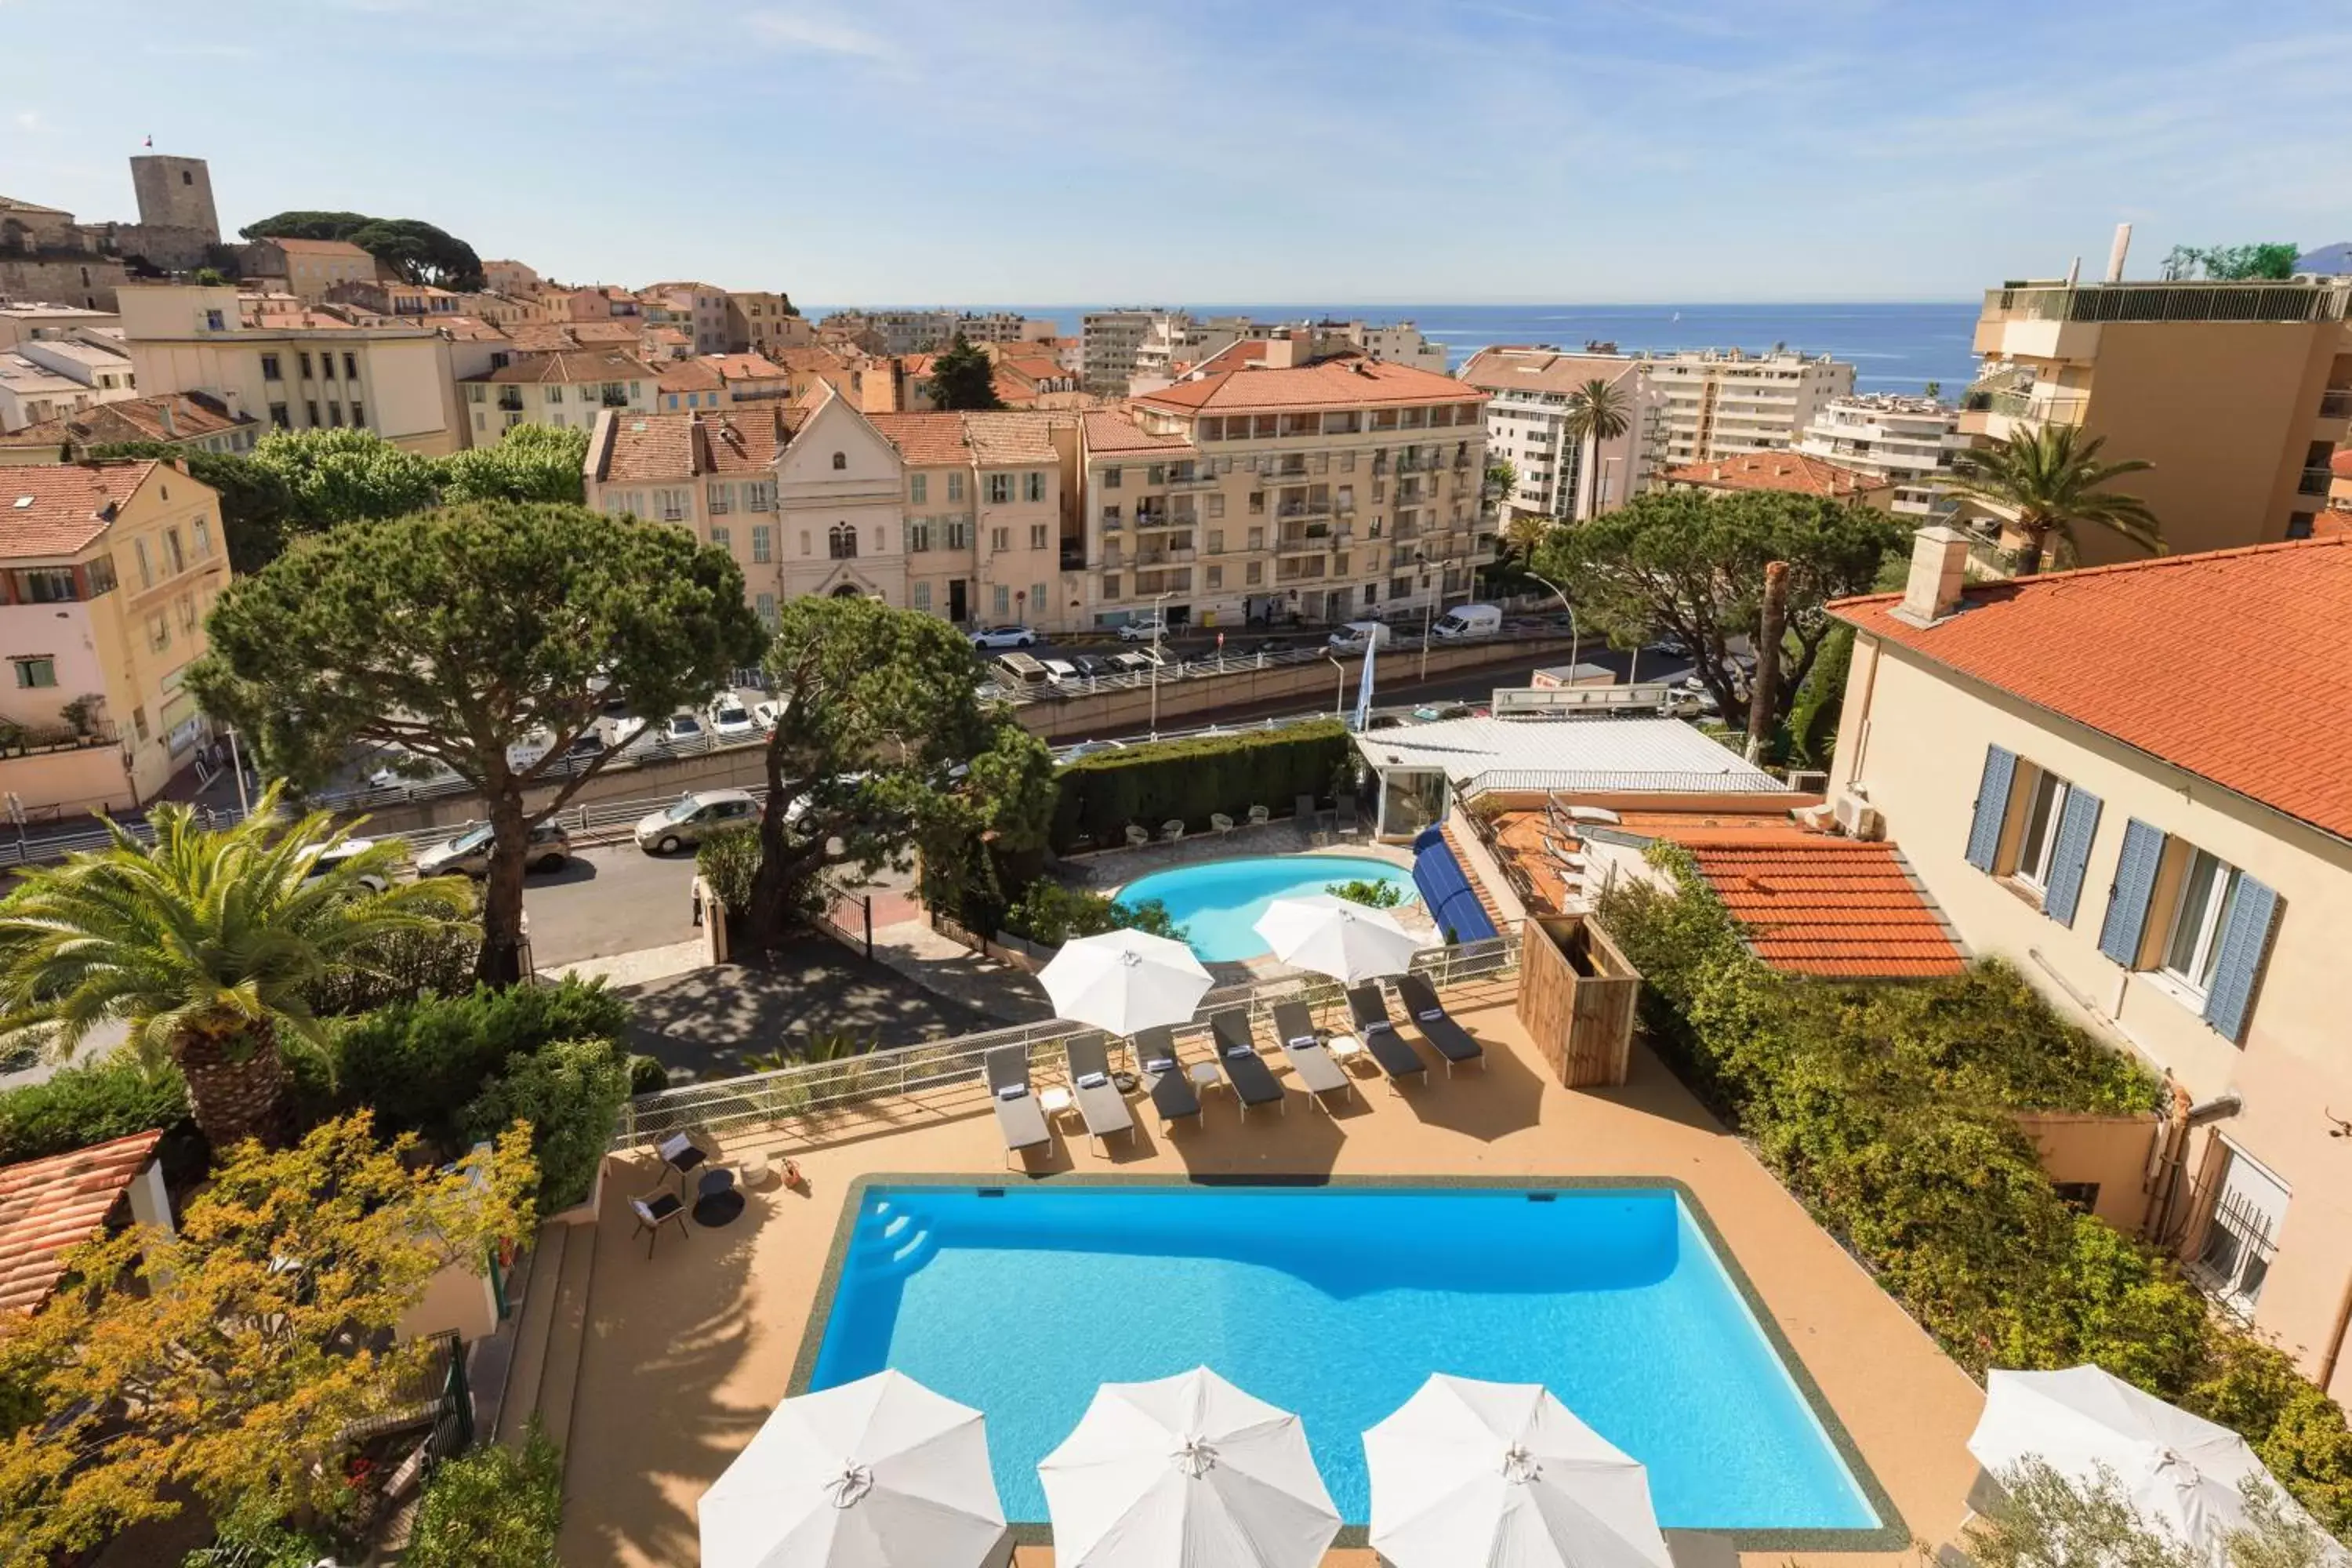
{"label": "rightmost of three white umbrellas along the large pool's near edge", "polygon": [[1672,1568],[1649,1472],[1541,1382],[1432,1375],[1364,1434],[1392,1568]]}

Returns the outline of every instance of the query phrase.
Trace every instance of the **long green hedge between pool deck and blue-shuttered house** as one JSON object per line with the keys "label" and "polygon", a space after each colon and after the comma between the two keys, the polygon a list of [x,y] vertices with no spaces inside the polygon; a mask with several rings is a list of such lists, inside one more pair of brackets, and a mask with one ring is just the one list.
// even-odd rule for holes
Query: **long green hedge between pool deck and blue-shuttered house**
{"label": "long green hedge between pool deck and blue-shuttered house", "polygon": [[2058,1199],[2018,1110],[2145,1112],[2157,1084],[2011,969],[1907,985],[1762,964],[1672,846],[1679,893],[1616,886],[1599,922],[1644,973],[1661,1056],[1733,1121],[1971,1373],[2091,1361],[2234,1427],[2312,1514],[2352,1533],[2345,1413],[2218,1319],[2178,1265]]}

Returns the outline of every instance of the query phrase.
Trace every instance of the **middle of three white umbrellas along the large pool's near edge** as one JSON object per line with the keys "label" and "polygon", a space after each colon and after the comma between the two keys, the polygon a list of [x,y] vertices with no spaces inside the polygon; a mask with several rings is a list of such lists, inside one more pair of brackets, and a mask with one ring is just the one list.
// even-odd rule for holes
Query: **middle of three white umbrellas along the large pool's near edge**
{"label": "middle of three white umbrellas along the large pool's near edge", "polygon": [[1037,1479],[1061,1568],[1308,1568],[1338,1535],[1298,1418],[1207,1366],[1105,1382]]}

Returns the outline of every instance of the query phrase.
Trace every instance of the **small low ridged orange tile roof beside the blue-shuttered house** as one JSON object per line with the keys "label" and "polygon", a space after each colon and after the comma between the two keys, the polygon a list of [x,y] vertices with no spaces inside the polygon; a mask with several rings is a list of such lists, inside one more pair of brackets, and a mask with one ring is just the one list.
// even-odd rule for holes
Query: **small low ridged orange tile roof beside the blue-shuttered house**
{"label": "small low ridged orange tile roof beside the blue-shuttered house", "polygon": [[1769,837],[1684,839],[1750,950],[1799,976],[1891,980],[1966,969],[1943,914],[1893,844],[1788,827]]}

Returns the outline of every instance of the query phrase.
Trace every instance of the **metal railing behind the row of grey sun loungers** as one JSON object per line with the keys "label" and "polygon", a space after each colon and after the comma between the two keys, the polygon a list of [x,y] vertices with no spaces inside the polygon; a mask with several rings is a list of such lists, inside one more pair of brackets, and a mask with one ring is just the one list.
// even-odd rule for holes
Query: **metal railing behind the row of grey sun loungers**
{"label": "metal railing behind the row of grey sun loungers", "polygon": [[[1498,983],[1519,971],[1519,938],[1498,936],[1484,943],[1425,947],[1414,957],[1411,971],[1425,976],[1437,990]],[[1192,1013],[1192,1023],[1178,1030],[1178,1041],[1204,1034],[1209,1018],[1230,1009],[1247,1009],[1256,1025],[1270,1013],[1275,1001],[1305,1001],[1322,1009],[1341,999],[1341,985],[1319,976],[1228,985],[1202,999]],[[927,1091],[969,1088],[978,1093],[983,1063],[997,1046],[1021,1046],[1028,1060],[1042,1067],[1051,1063],[1063,1041],[1087,1034],[1101,1034],[1101,1030],[1051,1018],[1047,1023],[957,1034],[894,1051],[868,1051],[830,1063],[800,1063],[774,1072],[663,1088],[637,1095],[621,1107],[612,1152],[659,1145],[675,1133],[724,1138],[748,1128],[840,1114]]]}

